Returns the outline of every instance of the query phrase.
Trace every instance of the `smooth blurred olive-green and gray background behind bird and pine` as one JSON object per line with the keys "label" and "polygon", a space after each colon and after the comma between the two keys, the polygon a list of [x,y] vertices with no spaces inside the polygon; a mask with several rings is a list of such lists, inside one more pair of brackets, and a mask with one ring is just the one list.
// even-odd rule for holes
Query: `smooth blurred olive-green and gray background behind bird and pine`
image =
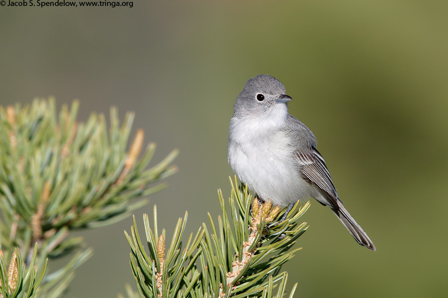
{"label": "smooth blurred olive-green and gray background behind bird and pine", "polygon": [[[7,1],[6,1],[7,2]],[[134,1],[133,7],[0,7],[0,104],[77,98],[179,148],[151,198],[171,234],[229,196],[228,123],[244,82],[271,74],[317,136],[338,193],[377,247],[356,244],[317,202],[284,268],[297,297],[448,297],[447,1]],[[66,297],[116,297],[133,277],[131,219],[77,232],[95,255]],[[55,266],[55,265],[54,265]]]}

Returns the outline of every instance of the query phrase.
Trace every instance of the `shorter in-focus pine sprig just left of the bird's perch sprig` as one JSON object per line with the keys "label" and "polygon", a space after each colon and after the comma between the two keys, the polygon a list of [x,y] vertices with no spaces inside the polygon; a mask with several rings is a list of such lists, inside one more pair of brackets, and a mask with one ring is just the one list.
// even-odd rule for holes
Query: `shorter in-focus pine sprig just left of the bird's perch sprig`
{"label": "shorter in-focus pine sprig just left of the bird's perch sprig", "polygon": [[179,219],[171,240],[169,249],[165,255],[165,229],[158,236],[157,231],[157,207],[154,205],[154,227],[150,228],[149,218],[143,216],[144,227],[149,255],[146,254],[137,224],[131,227],[131,236],[126,232],[126,238],[131,247],[131,269],[140,295],[143,297],[175,297],[179,293],[190,293],[197,284],[200,276],[196,260],[199,256],[199,241],[204,235],[204,230],[199,228],[196,236],[190,234],[187,244],[182,249],[182,235],[187,222],[187,212],[184,219]]}

